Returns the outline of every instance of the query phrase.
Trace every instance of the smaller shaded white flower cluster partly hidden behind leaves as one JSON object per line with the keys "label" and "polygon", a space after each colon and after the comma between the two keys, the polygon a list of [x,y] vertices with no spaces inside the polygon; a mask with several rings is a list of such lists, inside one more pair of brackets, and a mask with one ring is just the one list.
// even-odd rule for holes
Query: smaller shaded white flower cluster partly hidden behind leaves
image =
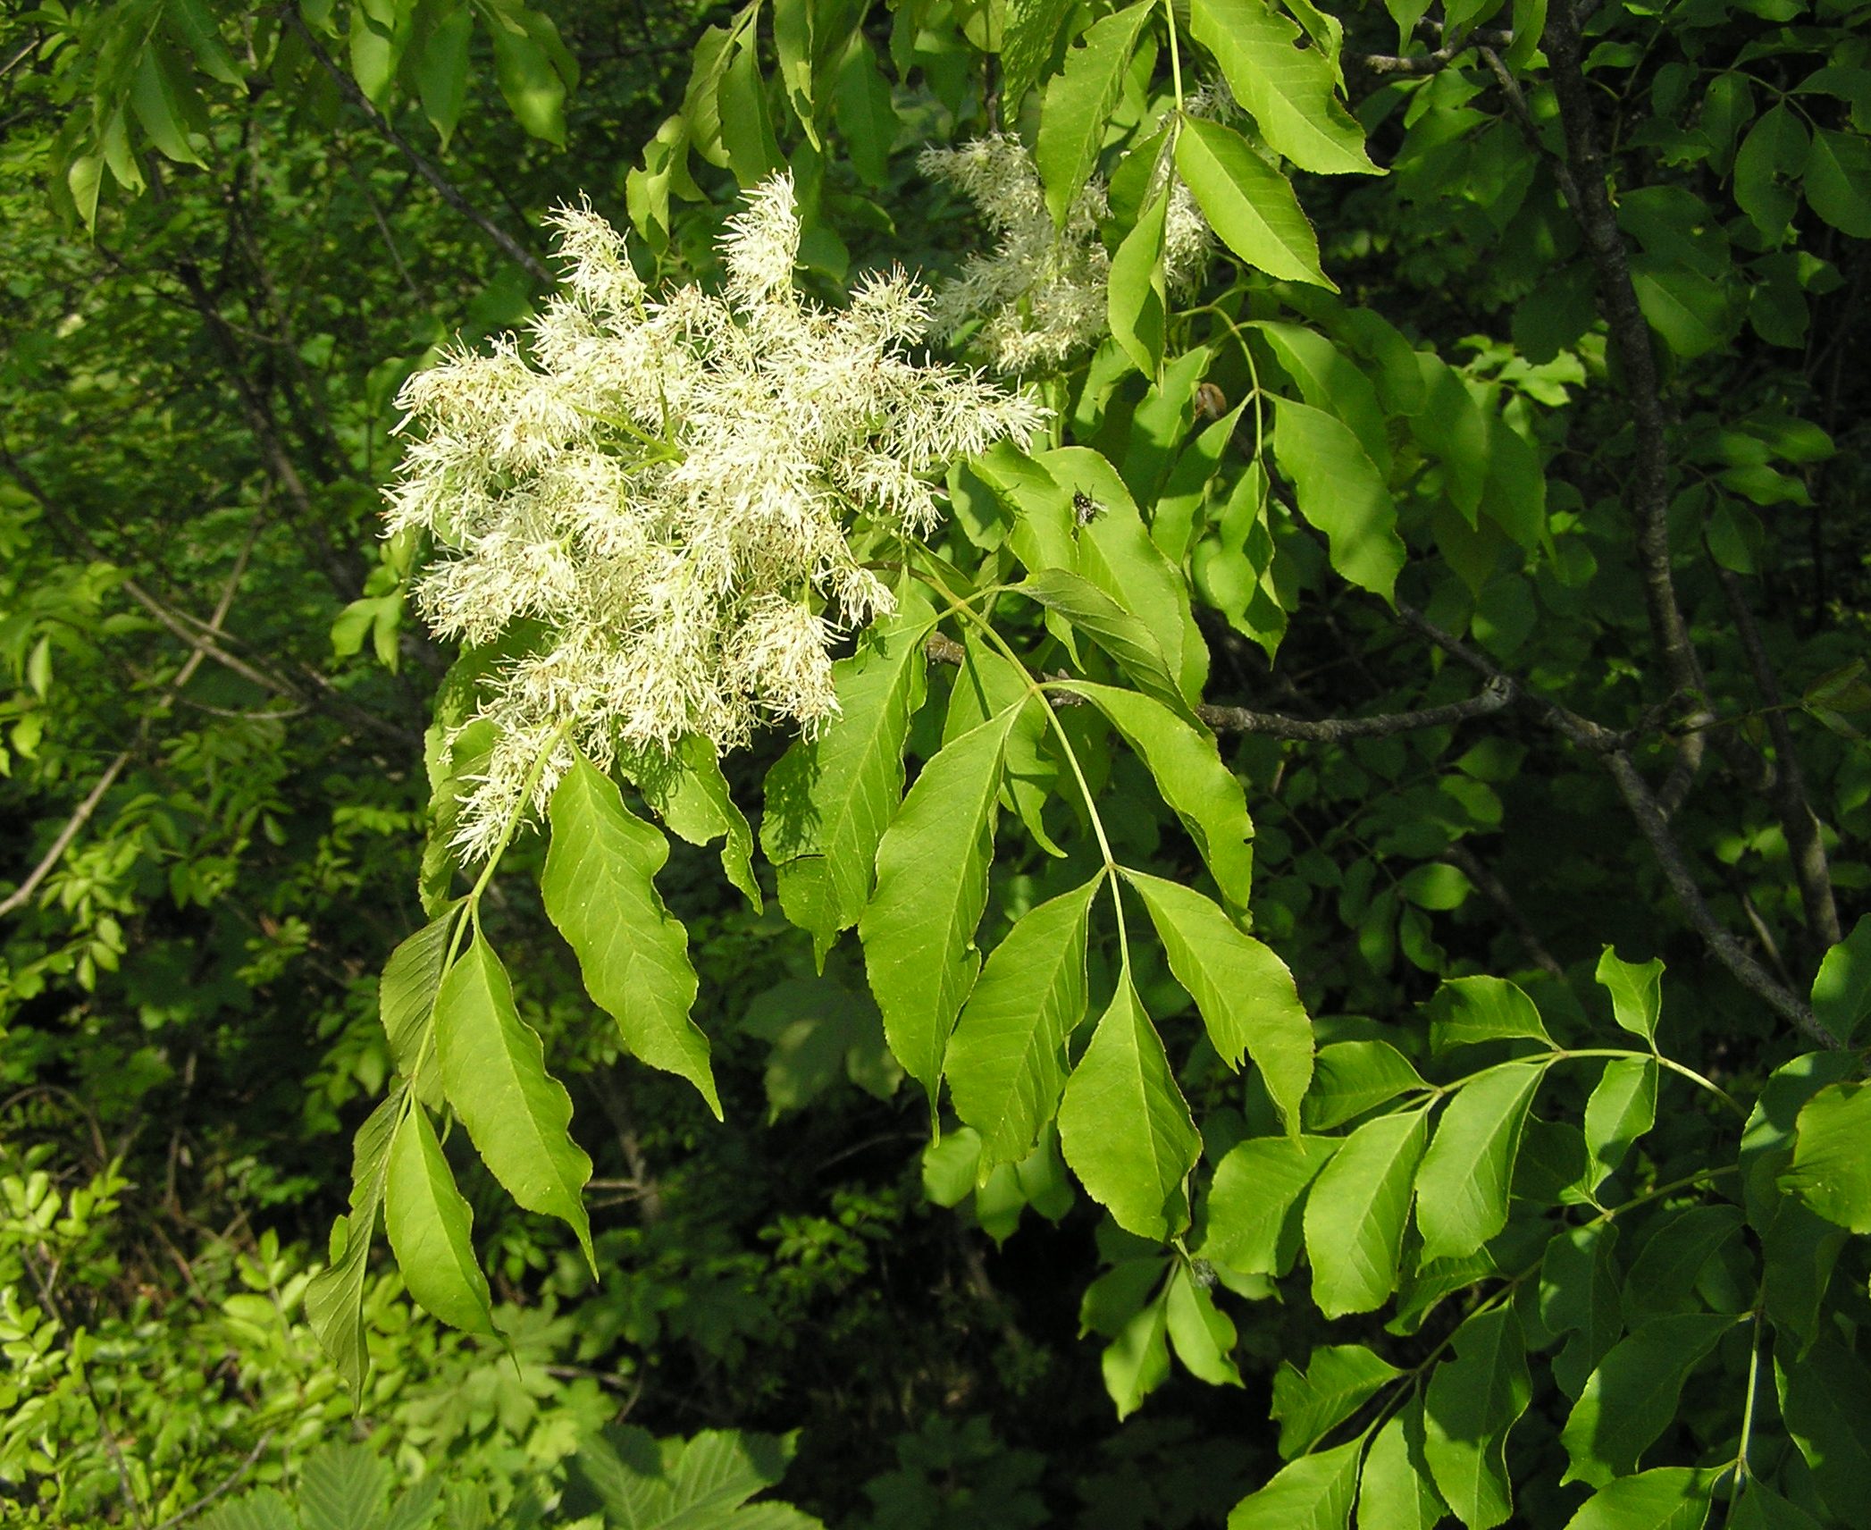
{"label": "smaller shaded white flower cluster partly hidden behind leaves", "polygon": [[[997,372],[1063,367],[1095,346],[1108,327],[1111,256],[1098,239],[1110,213],[1098,176],[1072,202],[1065,228],[1053,228],[1046,189],[1025,144],[1007,133],[973,138],[954,150],[924,150],[922,174],[945,180],[980,209],[995,234],[990,254],[969,256],[962,273],[936,294],[936,329],[950,339],[980,320],[975,342]],[[1169,181],[1164,221],[1164,277],[1173,292],[1201,277],[1209,224],[1168,155],[1156,165],[1149,195]]]}

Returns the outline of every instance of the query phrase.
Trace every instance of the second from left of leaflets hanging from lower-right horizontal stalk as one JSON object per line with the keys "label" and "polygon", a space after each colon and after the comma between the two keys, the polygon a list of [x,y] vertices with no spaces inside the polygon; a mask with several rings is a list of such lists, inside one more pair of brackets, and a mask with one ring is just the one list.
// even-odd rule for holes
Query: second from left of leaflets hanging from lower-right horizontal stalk
{"label": "second from left of leaflets hanging from lower-right horizontal stalk", "polygon": [[1422,1111],[1368,1120],[1332,1156],[1306,1197],[1312,1296],[1327,1317],[1375,1311],[1396,1291],[1411,1186],[1422,1158]]}

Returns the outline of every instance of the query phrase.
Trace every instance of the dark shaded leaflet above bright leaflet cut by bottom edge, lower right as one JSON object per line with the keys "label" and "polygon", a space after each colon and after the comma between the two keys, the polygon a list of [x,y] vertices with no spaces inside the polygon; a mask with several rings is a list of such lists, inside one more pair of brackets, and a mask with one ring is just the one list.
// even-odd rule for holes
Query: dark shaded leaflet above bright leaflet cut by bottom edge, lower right
{"label": "dark shaded leaflet above bright leaflet cut by bottom edge, lower right", "polygon": [[1572,1461],[1560,1481],[1603,1487],[1635,1472],[1645,1450],[1675,1422],[1690,1371],[1738,1321],[1725,1313],[1676,1313],[1618,1339],[1560,1431]]}

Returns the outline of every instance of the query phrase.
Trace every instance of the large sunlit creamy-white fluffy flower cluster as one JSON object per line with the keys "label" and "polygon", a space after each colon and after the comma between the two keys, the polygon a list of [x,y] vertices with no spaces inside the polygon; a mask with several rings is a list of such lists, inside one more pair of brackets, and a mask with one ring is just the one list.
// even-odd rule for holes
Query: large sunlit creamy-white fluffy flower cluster
{"label": "large sunlit creamy-white fluffy flower cluster", "polygon": [[573,746],[608,765],[687,733],[732,748],[760,722],[827,724],[829,643],[892,608],[848,524],[928,531],[932,475],[1044,423],[1033,400],[909,354],[928,294],[902,271],[842,310],[805,301],[790,176],[728,223],[724,296],[651,296],[589,206],[554,226],[565,286],[528,344],[451,352],[399,397],[423,432],[389,527],[455,554],[417,585],[430,627],[468,643],[520,619],[546,632],[477,713],[496,744],[462,804],[470,859],[550,795]]}

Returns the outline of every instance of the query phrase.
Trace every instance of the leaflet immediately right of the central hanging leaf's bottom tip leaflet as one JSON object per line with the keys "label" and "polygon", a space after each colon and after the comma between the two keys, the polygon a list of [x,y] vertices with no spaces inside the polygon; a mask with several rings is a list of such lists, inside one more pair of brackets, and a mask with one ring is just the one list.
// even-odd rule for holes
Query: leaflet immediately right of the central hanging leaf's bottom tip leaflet
{"label": "leaflet immediately right of the central hanging leaf's bottom tip leaflet", "polygon": [[1201,1010],[1222,1061],[1239,1068],[1242,1053],[1252,1057],[1297,1135],[1298,1102],[1312,1083],[1312,1021],[1287,965],[1199,892],[1143,872],[1126,870],[1124,879],[1151,911],[1169,971]]}

